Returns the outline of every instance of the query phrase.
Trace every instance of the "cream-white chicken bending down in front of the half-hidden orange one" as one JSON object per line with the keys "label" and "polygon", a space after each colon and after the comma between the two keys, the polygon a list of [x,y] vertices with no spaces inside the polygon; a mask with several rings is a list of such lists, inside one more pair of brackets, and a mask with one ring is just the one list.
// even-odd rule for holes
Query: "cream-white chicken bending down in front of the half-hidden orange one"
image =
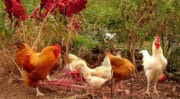
{"label": "cream-white chicken bending down in front of the half-hidden orange one", "polygon": [[91,69],[87,66],[87,63],[73,54],[69,54],[71,63],[69,68],[71,71],[79,70],[88,84],[93,88],[100,88],[106,81],[112,78],[112,67],[109,57],[105,57],[101,66]]}

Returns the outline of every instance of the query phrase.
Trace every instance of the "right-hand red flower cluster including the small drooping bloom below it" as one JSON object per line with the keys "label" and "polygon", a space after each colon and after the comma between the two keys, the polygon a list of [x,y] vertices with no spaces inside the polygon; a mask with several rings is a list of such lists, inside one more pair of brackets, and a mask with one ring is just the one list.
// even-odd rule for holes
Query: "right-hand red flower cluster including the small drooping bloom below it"
{"label": "right-hand red flower cluster including the small drooping bloom below it", "polygon": [[[31,14],[31,18],[47,17],[48,13],[56,15],[59,13],[67,16],[71,19],[73,14],[77,14],[86,7],[87,0],[41,0],[40,6],[37,7]],[[77,19],[72,19],[73,24],[78,32],[81,31],[80,25]],[[67,26],[69,27],[69,26]]]}

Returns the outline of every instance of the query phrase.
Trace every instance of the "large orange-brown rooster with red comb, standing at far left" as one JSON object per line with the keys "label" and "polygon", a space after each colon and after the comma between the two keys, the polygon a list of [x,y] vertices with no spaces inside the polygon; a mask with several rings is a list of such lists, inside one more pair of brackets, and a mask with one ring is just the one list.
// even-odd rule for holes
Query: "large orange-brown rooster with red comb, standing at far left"
{"label": "large orange-brown rooster with red comb, standing at far left", "polygon": [[16,43],[17,51],[15,60],[19,66],[24,83],[30,87],[36,87],[37,96],[44,95],[38,89],[38,82],[46,79],[50,73],[53,65],[58,60],[61,54],[61,47],[59,44],[48,46],[42,49],[40,53],[33,51],[33,49],[24,42]]}

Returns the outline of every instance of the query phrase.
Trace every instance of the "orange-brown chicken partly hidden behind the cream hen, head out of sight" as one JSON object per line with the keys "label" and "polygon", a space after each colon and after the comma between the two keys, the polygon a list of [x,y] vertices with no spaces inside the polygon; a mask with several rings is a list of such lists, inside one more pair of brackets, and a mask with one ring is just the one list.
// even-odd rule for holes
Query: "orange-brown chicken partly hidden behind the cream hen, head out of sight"
{"label": "orange-brown chicken partly hidden behind the cream hen, head out of sight", "polygon": [[115,78],[116,81],[125,79],[134,72],[135,67],[128,59],[122,58],[120,55],[114,56],[110,51],[106,51],[106,54],[110,58],[113,78]]}

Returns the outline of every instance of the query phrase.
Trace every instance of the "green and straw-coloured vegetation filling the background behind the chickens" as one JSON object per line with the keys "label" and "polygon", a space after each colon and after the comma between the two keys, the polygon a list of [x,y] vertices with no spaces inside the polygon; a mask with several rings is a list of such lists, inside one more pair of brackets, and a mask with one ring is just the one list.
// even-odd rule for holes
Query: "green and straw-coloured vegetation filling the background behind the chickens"
{"label": "green and straw-coloured vegetation filling the background behind the chickens", "polygon": [[[67,17],[49,14],[46,21],[26,20],[17,27],[11,22],[0,1],[0,52],[3,58],[14,57],[14,42],[24,40],[36,50],[60,43],[72,53],[91,53],[91,49],[122,50],[123,56],[140,66],[137,51],[148,49],[156,34],[161,37],[164,55],[168,59],[170,78],[180,79],[180,2],[179,0],[88,0],[81,14],[73,15],[81,31],[67,30]],[[40,0],[22,0],[30,15]],[[105,33],[116,33],[112,41],[105,42]],[[71,34],[71,35],[70,35]],[[36,43],[35,43],[36,42]],[[65,49],[64,49],[65,50]],[[66,49],[67,50],[67,49]],[[6,60],[6,62],[10,62]],[[5,63],[6,63],[5,62]],[[11,62],[12,63],[12,62]],[[1,64],[2,65],[2,64]],[[12,71],[15,69],[9,66]]]}

